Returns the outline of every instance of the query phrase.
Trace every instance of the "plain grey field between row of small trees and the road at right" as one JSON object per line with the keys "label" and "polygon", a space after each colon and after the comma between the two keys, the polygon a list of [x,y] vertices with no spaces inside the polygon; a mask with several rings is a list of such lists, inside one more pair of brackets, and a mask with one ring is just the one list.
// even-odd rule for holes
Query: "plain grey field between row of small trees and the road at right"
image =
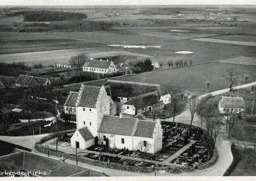
{"label": "plain grey field between row of small trees and the road at right", "polygon": [[[229,87],[229,82],[224,80],[222,76],[228,68],[234,68],[237,75],[250,75],[250,80],[256,78],[256,71],[252,66],[237,64],[227,64],[227,66],[223,66],[223,64],[216,62],[199,66],[142,73],[117,79],[133,82],[159,83],[162,89],[168,87],[170,83],[173,83],[173,85],[180,86],[186,91],[193,92],[205,92],[207,88],[205,82],[209,80],[211,82],[209,92],[212,92]],[[242,81],[240,83],[242,83]],[[238,82],[236,82],[236,84],[238,84]]]}

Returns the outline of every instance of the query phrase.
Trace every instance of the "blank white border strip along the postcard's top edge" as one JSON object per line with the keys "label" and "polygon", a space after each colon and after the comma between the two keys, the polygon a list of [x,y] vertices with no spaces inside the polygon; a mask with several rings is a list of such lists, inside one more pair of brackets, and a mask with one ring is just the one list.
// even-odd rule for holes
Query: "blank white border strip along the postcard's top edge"
{"label": "blank white border strip along the postcard's top edge", "polygon": [[256,4],[256,0],[0,0],[0,5]]}

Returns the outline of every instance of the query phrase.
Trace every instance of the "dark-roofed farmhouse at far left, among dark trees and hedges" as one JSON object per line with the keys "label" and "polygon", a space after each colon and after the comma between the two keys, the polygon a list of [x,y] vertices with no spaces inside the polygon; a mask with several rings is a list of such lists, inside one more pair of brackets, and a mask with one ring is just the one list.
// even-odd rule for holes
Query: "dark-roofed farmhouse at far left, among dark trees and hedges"
{"label": "dark-roofed farmhouse at far left, among dark trees and hedges", "polygon": [[36,77],[31,75],[19,75],[17,80],[15,81],[15,87],[30,87],[43,85],[50,85],[51,81],[48,78]]}

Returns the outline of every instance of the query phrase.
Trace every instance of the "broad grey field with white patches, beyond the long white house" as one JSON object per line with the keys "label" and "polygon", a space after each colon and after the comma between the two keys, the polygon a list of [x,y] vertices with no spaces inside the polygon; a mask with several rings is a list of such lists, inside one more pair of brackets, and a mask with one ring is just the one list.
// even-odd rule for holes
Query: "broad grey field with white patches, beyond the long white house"
{"label": "broad grey field with white patches, beyond the long white house", "polygon": [[[161,31],[160,31],[161,32]],[[119,34],[116,32],[90,32],[90,33],[52,33],[52,36],[58,38],[72,38],[77,40],[100,41],[107,45],[155,45],[161,48],[122,48],[115,47],[115,50],[126,50],[136,54],[151,55],[157,61],[168,62],[169,60],[193,60],[193,63],[216,61],[219,59],[227,59],[239,55],[248,55],[255,53],[255,48],[244,47],[241,45],[225,45],[221,43],[211,43],[204,41],[170,41],[166,38],[154,36],[143,36],[140,30],[134,34]],[[48,35],[49,33],[45,33]],[[189,38],[188,33],[182,33],[184,39]],[[200,34],[200,33],[197,33]],[[49,34],[51,36],[51,34]],[[208,36],[208,34],[207,34]],[[172,33],[175,37],[175,33]],[[108,47],[109,48],[109,47]],[[113,47],[112,47],[113,48]],[[174,54],[174,52],[187,50],[194,52],[191,55]]]}

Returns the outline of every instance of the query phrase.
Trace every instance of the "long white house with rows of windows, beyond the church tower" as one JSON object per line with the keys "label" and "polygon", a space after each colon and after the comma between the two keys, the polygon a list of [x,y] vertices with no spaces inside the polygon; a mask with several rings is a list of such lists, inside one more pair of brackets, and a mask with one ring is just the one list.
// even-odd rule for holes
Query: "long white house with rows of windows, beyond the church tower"
{"label": "long white house with rows of windows, beyond the church tower", "polygon": [[113,61],[102,61],[92,59],[90,62],[85,62],[83,65],[83,71],[93,72],[93,73],[102,73],[102,74],[111,74],[117,72],[116,65]]}

